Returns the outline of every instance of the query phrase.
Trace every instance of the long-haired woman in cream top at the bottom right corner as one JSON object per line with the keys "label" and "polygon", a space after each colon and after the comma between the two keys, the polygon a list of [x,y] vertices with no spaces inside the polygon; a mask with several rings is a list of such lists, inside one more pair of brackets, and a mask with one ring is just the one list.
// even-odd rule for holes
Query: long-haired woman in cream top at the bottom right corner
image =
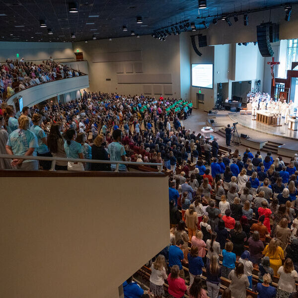
{"label": "long-haired woman in cream top at the bottom right corner", "polygon": [[296,284],[298,281],[298,273],[294,269],[293,261],[287,258],[284,266],[278,269],[278,275],[280,276],[278,281],[277,298],[288,298],[293,292],[296,292]]}

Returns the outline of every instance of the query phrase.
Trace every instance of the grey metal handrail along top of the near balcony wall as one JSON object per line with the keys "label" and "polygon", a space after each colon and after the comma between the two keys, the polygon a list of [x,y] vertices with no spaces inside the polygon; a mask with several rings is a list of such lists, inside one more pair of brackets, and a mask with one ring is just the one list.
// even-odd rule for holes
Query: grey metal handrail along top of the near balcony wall
{"label": "grey metal handrail along top of the near balcony wall", "polygon": [[10,154],[0,154],[0,158],[6,159],[30,159],[30,160],[49,160],[52,161],[52,166],[50,171],[55,171],[56,161],[73,161],[73,162],[90,162],[90,163],[116,163],[115,172],[119,172],[119,164],[127,165],[156,165],[158,172],[162,171],[162,163],[153,162],[135,162],[135,161],[119,161],[119,160],[101,160],[101,159],[80,159],[80,158],[63,158],[63,157],[45,157],[45,156],[27,156],[27,155],[10,155]]}

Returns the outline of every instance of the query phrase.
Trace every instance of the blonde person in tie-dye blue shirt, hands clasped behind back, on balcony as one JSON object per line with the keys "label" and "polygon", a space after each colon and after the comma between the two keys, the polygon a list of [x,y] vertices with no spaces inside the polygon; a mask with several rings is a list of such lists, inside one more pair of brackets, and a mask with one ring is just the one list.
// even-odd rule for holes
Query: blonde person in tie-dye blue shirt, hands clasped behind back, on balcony
{"label": "blonde person in tie-dye blue shirt, hands clasped behind back, on balcony", "polygon": [[[18,118],[19,128],[12,131],[6,144],[6,152],[9,155],[37,156],[38,142],[35,134],[29,130],[30,120],[22,115]],[[21,170],[38,170],[38,161],[30,159],[13,159],[12,167]]]}

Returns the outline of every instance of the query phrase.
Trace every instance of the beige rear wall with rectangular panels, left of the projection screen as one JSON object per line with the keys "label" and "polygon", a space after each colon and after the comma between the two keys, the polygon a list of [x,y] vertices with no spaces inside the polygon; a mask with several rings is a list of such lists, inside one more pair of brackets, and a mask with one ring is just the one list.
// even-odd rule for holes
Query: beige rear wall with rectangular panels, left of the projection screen
{"label": "beige rear wall with rectangular panels, left of the projection screen", "polygon": [[[90,90],[102,92],[117,92],[119,94],[141,94],[145,93],[145,88],[151,90],[149,95],[159,97],[159,92],[155,90],[160,88],[161,94],[169,97],[180,97],[180,54],[179,54],[179,37],[168,36],[166,42],[160,42],[150,35],[127,38],[115,38],[109,40],[92,40],[88,43],[78,42],[74,43],[74,52],[79,50],[83,52],[84,59],[88,61],[89,74],[90,74]],[[141,57],[140,52],[141,51]],[[119,53],[122,52],[122,53]],[[121,58],[124,53],[126,57]],[[116,54],[115,54],[116,53]],[[113,59],[108,59],[108,56],[113,56]],[[103,62],[94,62],[101,60]],[[110,60],[107,62],[107,60]],[[111,61],[112,60],[112,61]],[[122,61],[119,61],[122,60]],[[136,73],[135,64],[142,64],[143,72]],[[132,73],[128,71],[130,68]],[[137,77],[153,74],[171,74],[170,83],[118,83],[119,68],[123,70],[121,75]],[[110,81],[106,81],[110,78]],[[147,87],[144,87],[146,85]],[[160,87],[154,87],[159,85]],[[170,85],[172,94],[165,95],[164,85]],[[155,93],[155,94],[154,94]]]}

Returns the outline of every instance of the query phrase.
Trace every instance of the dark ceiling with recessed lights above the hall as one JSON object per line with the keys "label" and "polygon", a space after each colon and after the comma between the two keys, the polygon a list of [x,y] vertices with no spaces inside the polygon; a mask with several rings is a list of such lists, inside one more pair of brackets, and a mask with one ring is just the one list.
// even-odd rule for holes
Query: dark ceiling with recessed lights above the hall
{"label": "dark ceiling with recessed lights above the hall", "polygon": [[[68,12],[71,1],[77,3],[78,13]],[[206,18],[208,24],[212,21],[209,15],[262,9],[264,5],[270,7],[282,2],[298,3],[293,0],[207,0],[208,9],[201,10],[200,16]],[[92,35],[103,39],[130,36],[132,30],[136,35],[145,35],[185,19],[202,28],[202,20],[197,18],[198,0],[0,0],[0,7],[0,41],[15,41],[15,38],[35,42],[78,41],[90,40]],[[90,17],[94,15],[98,17]],[[136,23],[137,16],[143,17],[143,24]],[[47,22],[53,35],[48,35],[47,28],[40,28],[40,19]],[[122,31],[122,25],[128,27],[127,32]],[[75,39],[71,38],[71,33],[75,34]]]}

